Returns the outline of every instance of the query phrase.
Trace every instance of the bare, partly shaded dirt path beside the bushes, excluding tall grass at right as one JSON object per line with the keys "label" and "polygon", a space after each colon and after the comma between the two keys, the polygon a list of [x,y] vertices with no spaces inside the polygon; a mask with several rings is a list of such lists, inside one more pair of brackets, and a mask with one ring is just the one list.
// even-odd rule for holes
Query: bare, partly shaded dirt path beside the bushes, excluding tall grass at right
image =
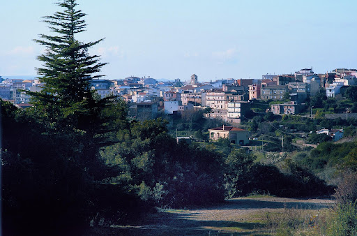
{"label": "bare, partly shaded dirt path beside the bushes, excluding tall grass at right", "polygon": [[[286,208],[318,210],[333,200],[291,198],[234,198],[204,209],[165,209],[132,226],[95,229],[91,235],[262,235],[258,223],[265,212]],[[264,235],[264,234],[263,234]]]}

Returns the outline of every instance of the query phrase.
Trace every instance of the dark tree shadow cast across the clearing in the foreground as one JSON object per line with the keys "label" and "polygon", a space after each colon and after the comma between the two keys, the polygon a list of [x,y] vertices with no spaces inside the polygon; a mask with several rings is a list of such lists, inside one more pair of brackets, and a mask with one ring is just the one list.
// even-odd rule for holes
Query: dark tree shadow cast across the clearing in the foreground
{"label": "dark tree shadow cast across the clearing in the foreground", "polygon": [[[229,209],[323,209],[329,204],[312,202],[282,202],[257,199],[231,199],[222,205],[194,210],[164,210],[149,214],[130,226],[112,228],[91,228],[86,235],[266,235],[264,225],[244,221],[205,221],[196,219],[202,211]],[[220,214],[220,213],[218,213]],[[238,216],[238,215],[237,215]]]}

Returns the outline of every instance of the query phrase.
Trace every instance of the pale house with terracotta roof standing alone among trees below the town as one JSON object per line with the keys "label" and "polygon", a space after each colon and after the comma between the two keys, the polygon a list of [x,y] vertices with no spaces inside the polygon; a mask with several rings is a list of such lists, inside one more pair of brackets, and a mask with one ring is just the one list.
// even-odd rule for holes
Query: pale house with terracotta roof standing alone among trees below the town
{"label": "pale house with terracotta roof standing alone among trees below the town", "polygon": [[222,126],[217,128],[210,128],[209,138],[212,141],[217,141],[219,138],[227,138],[231,143],[238,145],[247,145],[249,143],[249,131],[242,128],[235,128],[232,126]]}

